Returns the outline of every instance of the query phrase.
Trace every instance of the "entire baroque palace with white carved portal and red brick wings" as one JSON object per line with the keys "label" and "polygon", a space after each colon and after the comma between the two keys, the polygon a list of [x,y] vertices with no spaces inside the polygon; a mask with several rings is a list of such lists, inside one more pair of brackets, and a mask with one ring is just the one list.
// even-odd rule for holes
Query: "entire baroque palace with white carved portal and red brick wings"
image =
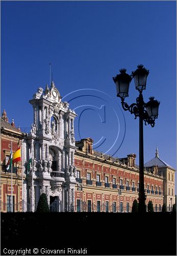
{"label": "entire baroque palace with white carved portal and red brick wings", "polygon": [[[91,138],[75,141],[74,118],[68,102],[62,102],[54,82],[39,88],[33,106],[31,131],[22,133],[10,124],[4,111],[1,118],[1,211],[35,211],[42,193],[51,211],[129,212],[138,199],[139,169],[136,155],[114,158],[93,150]],[[10,155],[21,146],[21,162],[7,172]],[[32,156],[32,165],[27,164]],[[153,201],[155,211],[163,203],[171,210],[175,169],[159,158],[145,164],[146,204]],[[11,194],[11,180],[13,189]]]}

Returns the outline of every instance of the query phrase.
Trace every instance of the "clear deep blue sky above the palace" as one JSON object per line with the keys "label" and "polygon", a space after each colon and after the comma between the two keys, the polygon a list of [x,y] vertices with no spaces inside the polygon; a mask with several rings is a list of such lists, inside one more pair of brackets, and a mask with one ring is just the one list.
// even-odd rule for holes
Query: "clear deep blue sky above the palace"
{"label": "clear deep blue sky above the palace", "polygon": [[[139,122],[121,111],[112,77],[142,63],[150,71],[144,100],[161,101],[155,127],[144,126],[144,162],[158,145],[176,168],[175,1],[2,1],[1,112],[20,127],[33,122],[29,100],[49,83],[49,63],[78,114],[76,139],[91,137],[96,150],[115,157],[135,153],[137,164]],[[136,97],[132,81],[127,102]]]}

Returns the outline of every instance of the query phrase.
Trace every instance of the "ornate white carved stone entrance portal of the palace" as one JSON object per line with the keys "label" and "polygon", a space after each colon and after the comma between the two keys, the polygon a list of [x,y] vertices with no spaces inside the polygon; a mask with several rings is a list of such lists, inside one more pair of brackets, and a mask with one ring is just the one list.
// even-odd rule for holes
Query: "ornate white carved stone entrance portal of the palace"
{"label": "ornate white carved stone entrance portal of the palace", "polygon": [[[72,211],[74,206],[74,118],[68,102],[61,96],[54,82],[45,90],[38,88],[33,99],[33,124],[24,143],[26,163],[32,153],[33,164],[27,174],[27,210],[35,211],[41,193],[48,204],[57,202],[59,211]],[[33,171],[32,171],[33,170]],[[25,185],[24,185],[25,186]]]}

